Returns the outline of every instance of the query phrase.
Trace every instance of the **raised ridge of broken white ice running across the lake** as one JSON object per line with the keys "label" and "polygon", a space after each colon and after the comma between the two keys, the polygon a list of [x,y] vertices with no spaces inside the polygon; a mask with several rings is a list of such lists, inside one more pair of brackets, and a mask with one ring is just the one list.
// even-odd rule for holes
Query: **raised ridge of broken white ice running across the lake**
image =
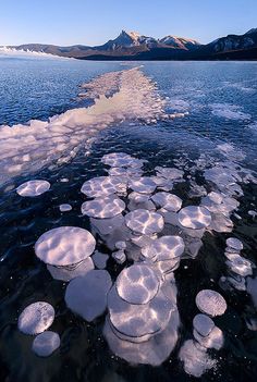
{"label": "raised ridge of broken white ice running across the lake", "polygon": [[[96,89],[91,107],[69,110],[48,122],[0,126],[0,183],[32,169],[68,162],[81,145],[90,145],[96,134],[112,123],[155,123],[169,118],[163,111],[166,101],[138,67],[103,74],[91,84]],[[107,97],[111,90],[115,93]]]}

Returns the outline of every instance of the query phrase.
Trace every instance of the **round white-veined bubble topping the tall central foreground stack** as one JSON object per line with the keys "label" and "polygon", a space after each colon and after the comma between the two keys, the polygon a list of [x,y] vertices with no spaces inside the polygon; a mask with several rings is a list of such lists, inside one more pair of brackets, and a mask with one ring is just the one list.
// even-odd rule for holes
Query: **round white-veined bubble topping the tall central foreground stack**
{"label": "round white-veined bubble topping the tall central foreground stack", "polygon": [[160,281],[147,266],[134,264],[123,269],[117,279],[120,297],[130,304],[147,304],[158,289]]}

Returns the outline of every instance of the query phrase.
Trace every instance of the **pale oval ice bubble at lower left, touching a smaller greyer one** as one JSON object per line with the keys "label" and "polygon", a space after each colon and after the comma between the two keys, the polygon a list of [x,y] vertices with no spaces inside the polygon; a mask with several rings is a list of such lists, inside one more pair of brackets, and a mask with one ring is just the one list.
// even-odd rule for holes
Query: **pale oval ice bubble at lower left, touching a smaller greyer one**
{"label": "pale oval ice bubble at lower left, touching a smaller greyer one", "polygon": [[24,334],[39,334],[47,330],[54,320],[53,307],[45,301],[28,305],[20,315],[17,328]]}

